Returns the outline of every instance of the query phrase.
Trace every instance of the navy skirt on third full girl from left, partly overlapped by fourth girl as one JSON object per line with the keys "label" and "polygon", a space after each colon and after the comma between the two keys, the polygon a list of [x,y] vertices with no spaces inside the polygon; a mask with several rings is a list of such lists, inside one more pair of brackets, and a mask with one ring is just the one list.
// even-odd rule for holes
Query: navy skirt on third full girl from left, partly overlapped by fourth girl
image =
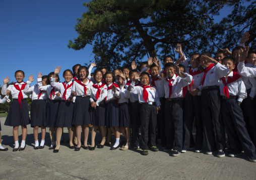
{"label": "navy skirt on third full girl from left, partly overlapped by fourth girl", "polygon": [[58,112],[58,105],[60,103],[60,100],[47,100],[46,105],[46,125],[47,127],[55,127],[55,121],[57,117]]}

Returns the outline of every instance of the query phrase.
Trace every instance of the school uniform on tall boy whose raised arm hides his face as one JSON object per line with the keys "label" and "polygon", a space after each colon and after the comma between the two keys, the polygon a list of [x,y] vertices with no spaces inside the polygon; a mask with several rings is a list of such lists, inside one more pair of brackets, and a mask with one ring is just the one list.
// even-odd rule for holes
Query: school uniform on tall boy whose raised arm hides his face
{"label": "school uniform on tall boy whose raised arm hides his face", "polygon": [[[205,69],[202,79],[201,108],[204,134],[208,151],[225,150],[226,137],[220,113],[220,78],[226,76],[229,69],[217,63]],[[215,124],[215,125],[214,125]],[[216,136],[214,132],[216,131]]]}

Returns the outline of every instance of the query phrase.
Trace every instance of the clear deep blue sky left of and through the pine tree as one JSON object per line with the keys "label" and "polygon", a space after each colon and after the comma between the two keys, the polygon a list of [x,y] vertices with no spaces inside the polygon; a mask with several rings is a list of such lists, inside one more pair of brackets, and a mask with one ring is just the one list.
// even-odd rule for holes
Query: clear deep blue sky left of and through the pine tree
{"label": "clear deep blue sky left of and through the pine tree", "polygon": [[[91,45],[80,51],[67,47],[68,41],[77,37],[74,26],[86,12],[85,2],[89,1],[0,1],[1,86],[6,76],[16,81],[16,70],[25,72],[26,82],[30,74],[36,79],[39,71],[47,75],[61,66],[61,76],[65,69],[93,60]],[[225,16],[230,8],[221,12],[220,17]]]}

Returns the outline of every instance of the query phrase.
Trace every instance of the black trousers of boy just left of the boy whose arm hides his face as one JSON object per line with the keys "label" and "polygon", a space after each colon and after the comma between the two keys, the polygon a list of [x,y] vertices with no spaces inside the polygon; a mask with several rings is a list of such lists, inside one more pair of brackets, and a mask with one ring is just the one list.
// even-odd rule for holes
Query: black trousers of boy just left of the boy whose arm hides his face
{"label": "black trousers of boy just left of the boy whose arm hides his face", "polygon": [[193,123],[196,117],[196,141],[194,148],[201,150],[203,148],[203,122],[201,113],[201,96],[191,96],[186,93],[184,98],[183,111],[183,149],[189,149],[193,145]]}

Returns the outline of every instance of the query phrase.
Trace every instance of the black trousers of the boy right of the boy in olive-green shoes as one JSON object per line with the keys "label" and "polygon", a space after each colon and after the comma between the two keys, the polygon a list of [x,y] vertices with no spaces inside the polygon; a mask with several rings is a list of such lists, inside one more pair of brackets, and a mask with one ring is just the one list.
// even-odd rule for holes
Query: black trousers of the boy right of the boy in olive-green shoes
{"label": "black trousers of the boy right of the boy in olive-green shoes", "polygon": [[[182,150],[183,145],[183,102],[165,101],[165,132],[170,149]],[[169,149],[169,147],[167,146]]]}

